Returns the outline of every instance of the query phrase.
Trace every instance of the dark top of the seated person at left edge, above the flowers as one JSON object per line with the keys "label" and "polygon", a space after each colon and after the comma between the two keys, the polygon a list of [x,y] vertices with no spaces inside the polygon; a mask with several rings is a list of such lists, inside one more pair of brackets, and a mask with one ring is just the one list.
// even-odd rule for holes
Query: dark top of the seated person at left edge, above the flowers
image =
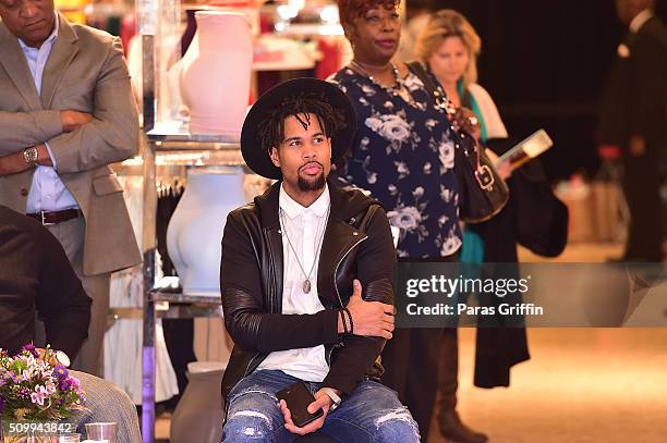
{"label": "dark top of the seated person at left edge, above the flowers", "polygon": [[35,311],[53,349],[75,356],[88,335],[90,298],[60,243],[36,220],[0,206],[0,347],[35,336]]}

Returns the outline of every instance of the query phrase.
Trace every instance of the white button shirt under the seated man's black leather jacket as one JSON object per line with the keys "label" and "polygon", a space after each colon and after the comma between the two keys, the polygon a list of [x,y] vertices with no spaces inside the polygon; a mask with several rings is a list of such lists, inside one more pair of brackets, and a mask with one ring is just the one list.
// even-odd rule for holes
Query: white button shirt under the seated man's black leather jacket
{"label": "white button shirt under the seated man's black leather jacket", "polygon": [[[325,307],[317,296],[317,266],[319,261],[319,245],[327,226],[327,212],[329,209],[329,188],[307,208],[294,201],[280,187],[280,209],[283,212],[282,221],[282,256],[283,256],[283,284],[282,284],[282,313],[300,315],[316,313]],[[286,232],[287,231],[287,232]],[[301,264],[311,274],[311,292],[305,294],[303,283],[306,280],[304,272],[296,262],[296,257],[290,247],[299,253]],[[314,263],[314,264],[313,264]],[[301,380],[322,382],[329,373],[329,365],[325,358],[324,345],[305,347],[301,349],[277,350],[262,361],[257,370],[281,370],[287,374]]]}

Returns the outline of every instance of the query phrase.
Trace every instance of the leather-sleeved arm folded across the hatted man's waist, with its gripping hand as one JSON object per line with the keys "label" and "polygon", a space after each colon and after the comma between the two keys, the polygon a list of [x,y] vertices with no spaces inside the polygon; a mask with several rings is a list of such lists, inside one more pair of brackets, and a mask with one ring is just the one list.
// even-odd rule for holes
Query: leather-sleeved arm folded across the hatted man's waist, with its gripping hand
{"label": "leather-sleeved arm folded across the hatted man's waist, with its gripping hand", "polygon": [[[260,273],[254,245],[250,241],[247,227],[243,226],[238,218],[240,216],[234,212],[227,218],[220,268],[225,322],[234,343],[244,349],[260,353],[341,343],[340,334],[343,328],[338,309],[325,309],[312,315],[266,312],[260,296],[263,294],[260,281],[250,276]],[[389,231],[388,226],[387,231]],[[377,229],[375,233],[369,230],[369,235],[378,235],[377,232]],[[388,251],[391,254],[390,257],[393,257],[390,233],[387,235],[389,235]],[[364,242],[366,243],[375,242],[368,239]],[[391,260],[389,262],[392,263]],[[390,276],[392,271],[389,267],[387,274]],[[367,278],[373,279],[374,275],[369,274]],[[371,282],[365,278],[362,279],[363,282]],[[361,291],[360,285],[357,293]],[[385,303],[366,302],[361,295],[351,298],[348,308],[353,317],[355,333],[383,339],[391,337],[393,330],[392,293],[383,302]],[[375,360],[375,357],[372,361]]]}

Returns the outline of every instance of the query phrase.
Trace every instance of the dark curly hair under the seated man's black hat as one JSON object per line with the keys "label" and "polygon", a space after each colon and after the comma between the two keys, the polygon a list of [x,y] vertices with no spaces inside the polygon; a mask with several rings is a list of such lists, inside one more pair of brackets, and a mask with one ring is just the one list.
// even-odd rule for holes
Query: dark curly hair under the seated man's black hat
{"label": "dark curly hair under the seated man's black hat", "polygon": [[347,126],[342,112],[329,104],[324,94],[295,93],[282,100],[280,106],[272,109],[259,124],[257,135],[262,149],[270,151],[284,140],[284,119],[294,115],[306,128],[311,123],[308,114],[315,114],[319,127],[327,137],[335,136]]}

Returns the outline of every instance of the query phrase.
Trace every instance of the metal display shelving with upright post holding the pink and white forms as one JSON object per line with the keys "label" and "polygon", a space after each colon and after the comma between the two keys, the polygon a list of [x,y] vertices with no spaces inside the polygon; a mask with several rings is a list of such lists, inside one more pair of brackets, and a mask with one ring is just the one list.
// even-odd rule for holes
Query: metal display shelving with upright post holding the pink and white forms
{"label": "metal display shelving with upright post holding the pink and white forms", "polygon": [[[219,297],[192,297],[156,287],[156,165],[243,165],[239,140],[210,134],[190,134],[179,122],[165,122],[174,114],[161,109],[160,96],[168,89],[165,70],[180,41],[180,0],[136,0],[143,52],[143,122],[146,148],[142,155],[144,180],[143,216],[143,346],[142,439],[155,442],[155,323],[158,318],[221,317]],[[170,52],[171,51],[171,52]],[[124,312],[136,316],[136,312]],[[119,312],[119,315],[122,315]]]}

